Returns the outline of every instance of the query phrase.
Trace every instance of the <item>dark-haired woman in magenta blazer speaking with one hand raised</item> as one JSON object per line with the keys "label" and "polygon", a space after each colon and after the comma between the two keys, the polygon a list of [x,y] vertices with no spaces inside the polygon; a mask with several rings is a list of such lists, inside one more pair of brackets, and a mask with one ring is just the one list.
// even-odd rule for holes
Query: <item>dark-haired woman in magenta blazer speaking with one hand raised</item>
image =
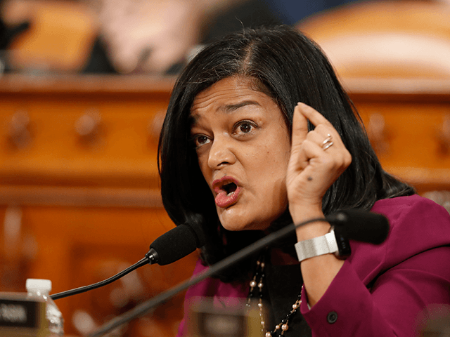
{"label": "dark-haired woman in magenta blazer speaking with one hand raised", "polygon": [[185,310],[193,296],[225,306],[259,296],[265,336],[413,336],[420,312],[450,303],[449,214],[383,171],[333,68],[299,32],[249,30],[201,51],[174,87],[159,153],[169,216],[203,219],[195,273],[287,223],[343,209],[383,213],[391,226],[379,246],[351,242],[347,259],[300,262],[295,250],[330,224],[298,227],[283,249],[193,286]]}

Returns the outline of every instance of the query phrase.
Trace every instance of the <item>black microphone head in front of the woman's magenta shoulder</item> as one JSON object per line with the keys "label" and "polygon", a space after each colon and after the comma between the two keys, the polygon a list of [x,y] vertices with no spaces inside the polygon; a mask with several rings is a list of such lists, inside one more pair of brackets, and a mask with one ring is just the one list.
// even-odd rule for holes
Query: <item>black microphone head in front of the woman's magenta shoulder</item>
{"label": "black microphone head in front of the woman's magenta shoulder", "polygon": [[347,239],[381,244],[389,234],[389,221],[382,214],[347,209],[326,218]]}

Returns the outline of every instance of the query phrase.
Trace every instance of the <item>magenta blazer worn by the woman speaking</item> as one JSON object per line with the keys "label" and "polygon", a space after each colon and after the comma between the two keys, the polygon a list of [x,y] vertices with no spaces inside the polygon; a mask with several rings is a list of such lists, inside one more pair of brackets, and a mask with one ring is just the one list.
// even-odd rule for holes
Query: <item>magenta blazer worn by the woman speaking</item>
{"label": "magenta blazer worn by the woman speaking", "polygon": [[[302,301],[312,336],[418,336],[428,310],[449,312],[450,214],[418,195],[377,201],[371,211],[390,220],[389,236],[378,246],[350,242],[352,255],[319,302],[309,310]],[[197,263],[194,275],[204,269]],[[247,284],[205,279],[188,289],[185,313],[197,296],[231,306],[247,295]],[[178,337],[186,335],[185,320]]]}

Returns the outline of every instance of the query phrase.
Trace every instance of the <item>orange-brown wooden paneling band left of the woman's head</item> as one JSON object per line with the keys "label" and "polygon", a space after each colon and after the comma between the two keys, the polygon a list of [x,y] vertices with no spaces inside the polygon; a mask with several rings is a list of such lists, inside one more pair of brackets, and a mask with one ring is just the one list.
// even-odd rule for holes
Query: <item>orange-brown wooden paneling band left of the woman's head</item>
{"label": "orange-brown wooden paneling band left of the woman's head", "polygon": [[127,187],[157,180],[158,118],[172,81],[6,77],[0,86],[2,179]]}

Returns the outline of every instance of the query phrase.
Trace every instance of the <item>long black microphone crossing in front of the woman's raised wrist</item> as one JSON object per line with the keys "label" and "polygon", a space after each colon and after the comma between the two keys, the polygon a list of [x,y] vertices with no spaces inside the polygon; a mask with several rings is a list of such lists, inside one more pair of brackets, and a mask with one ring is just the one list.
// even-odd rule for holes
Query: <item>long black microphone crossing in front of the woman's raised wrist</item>
{"label": "long black microphone crossing in front of the woman's raised wrist", "polygon": [[[155,308],[156,306],[165,303],[167,300],[169,300],[169,298],[174,297],[177,293],[188,289],[194,284],[198,284],[198,282],[203,281],[203,279],[211,277],[217,272],[230,267],[243,258],[247,258],[257,251],[270,246],[279,239],[282,239],[286,235],[294,232],[297,227],[307,225],[308,223],[314,223],[316,221],[328,221],[329,223],[332,223],[333,225],[337,226],[339,230],[345,231],[345,233],[348,235],[348,239],[361,240],[373,244],[383,242],[387,237],[387,233],[389,232],[389,222],[387,221],[387,218],[385,218],[385,216],[377,213],[370,213],[368,211],[360,211],[354,209],[340,211],[338,213],[331,214],[330,216],[326,216],[325,218],[310,219],[296,225],[291,223],[290,225],[281,228],[281,230],[268,234],[266,235],[266,237],[259,239],[257,242],[250,244],[244,249],[233,253],[231,256],[228,256],[223,260],[220,260],[218,263],[210,266],[207,270],[203,270],[203,272],[200,272],[200,274],[195,275],[191,279],[188,279],[187,281],[182,282],[181,284],[174,286],[167,291],[163,291],[158,296],[150,298],[150,300],[146,300],[145,302],[137,305],[135,308],[124,312],[124,314],[111,319],[110,322],[106,322],[105,324],[103,324],[103,326],[101,326],[99,329],[89,334],[88,336],[103,336],[105,333],[108,333],[108,331],[115,329],[117,326],[130,322],[132,319],[142,316],[151,308]],[[367,231],[367,234],[364,234],[364,231]]]}

